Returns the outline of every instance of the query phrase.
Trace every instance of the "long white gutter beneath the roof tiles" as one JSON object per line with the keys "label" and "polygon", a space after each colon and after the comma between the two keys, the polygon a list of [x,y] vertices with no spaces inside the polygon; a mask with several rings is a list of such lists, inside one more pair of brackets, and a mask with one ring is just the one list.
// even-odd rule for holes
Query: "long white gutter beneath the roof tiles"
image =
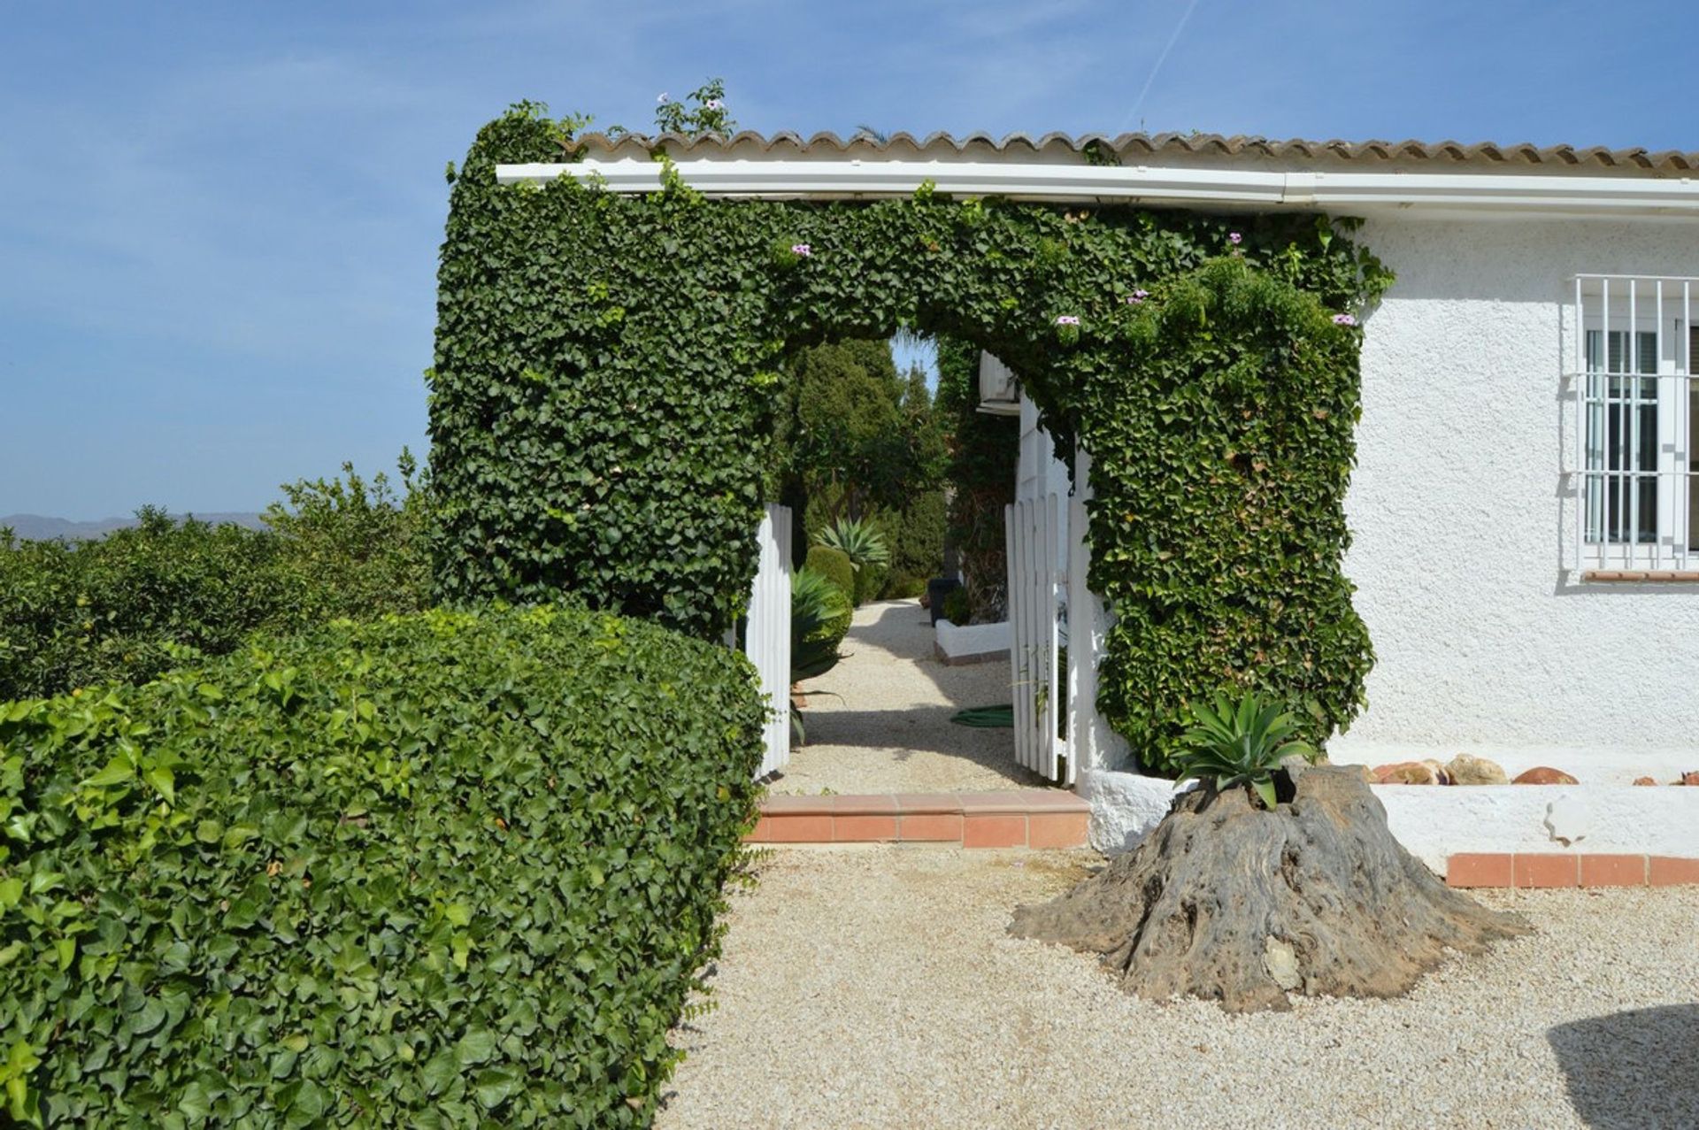
{"label": "long white gutter beneath the roof tiles", "polygon": [[[600,180],[612,192],[658,192],[658,161],[496,165],[498,184],[561,175]],[[1532,173],[1356,173],[1160,168],[1147,165],[1021,165],[1014,161],[676,161],[685,184],[717,197],[870,199],[911,195],[931,180],[951,195],[1021,201],[1123,201],[1256,209],[1369,212],[1448,209],[1490,212],[1699,214],[1687,177]]]}

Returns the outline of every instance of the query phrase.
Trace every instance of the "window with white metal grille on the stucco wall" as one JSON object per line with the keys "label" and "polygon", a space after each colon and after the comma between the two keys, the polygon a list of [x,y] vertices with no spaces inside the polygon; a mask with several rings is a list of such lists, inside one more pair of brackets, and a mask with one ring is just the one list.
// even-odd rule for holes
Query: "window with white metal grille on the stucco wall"
{"label": "window with white metal grille on the stucco wall", "polygon": [[1582,579],[1699,579],[1696,301],[1699,279],[1575,279],[1565,377]]}

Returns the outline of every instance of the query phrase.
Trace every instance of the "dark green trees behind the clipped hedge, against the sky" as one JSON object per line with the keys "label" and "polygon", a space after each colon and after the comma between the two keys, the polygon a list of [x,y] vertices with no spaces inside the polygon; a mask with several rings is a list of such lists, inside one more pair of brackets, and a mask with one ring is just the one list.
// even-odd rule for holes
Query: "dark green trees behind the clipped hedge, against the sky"
{"label": "dark green trees behind the clipped hedge, against the sky", "polygon": [[143,508],[141,525],[99,540],[0,540],[0,702],[146,681],[177,646],[216,656],[257,629],[426,607],[428,511],[411,460],[403,498],[384,474],[345,471],[347,483],[285,486],[268,532]]}

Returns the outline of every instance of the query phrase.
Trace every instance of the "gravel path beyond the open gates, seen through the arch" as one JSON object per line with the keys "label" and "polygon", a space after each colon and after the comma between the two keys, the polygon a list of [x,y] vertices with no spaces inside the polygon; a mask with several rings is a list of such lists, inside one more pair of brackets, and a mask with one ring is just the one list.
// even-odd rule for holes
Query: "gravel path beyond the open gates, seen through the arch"
{"label": "gravel path beyond the open gates, seen through the arch", "polygon": [[809,743],[792,751],[778,794],[977,792],[1038,788],[1014,765],[1006,729],[955,726],[963,707],[1009,702],[1009,664],[946,666],[933,656],[929,615],[912,600],[855,612],[846,658],[809,680]]}

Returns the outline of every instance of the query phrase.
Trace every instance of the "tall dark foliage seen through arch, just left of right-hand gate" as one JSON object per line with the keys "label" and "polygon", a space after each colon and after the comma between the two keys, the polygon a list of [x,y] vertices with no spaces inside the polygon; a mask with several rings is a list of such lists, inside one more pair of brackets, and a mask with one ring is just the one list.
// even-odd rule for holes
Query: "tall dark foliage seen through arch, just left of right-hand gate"
{"label": "tall dark foliage seen through arch, just left of right-hand gate", "polygon": [[965,600],[974,615],[1001,620],[1008,588],[1002,508],[1014,501],[1021,421],[979,411],[979,348],[951,338],[938,340],[938,411],[950,420],[946,530],[960,554]]}

